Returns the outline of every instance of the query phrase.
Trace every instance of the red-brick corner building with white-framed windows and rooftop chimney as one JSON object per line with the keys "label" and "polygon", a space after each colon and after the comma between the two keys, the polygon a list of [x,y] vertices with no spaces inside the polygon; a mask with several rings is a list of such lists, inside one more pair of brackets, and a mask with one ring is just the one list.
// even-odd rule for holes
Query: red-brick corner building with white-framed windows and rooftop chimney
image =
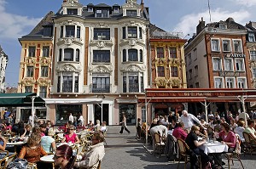
{"label": "red-brick corner building with white-framed windows and rooftop chimney", "polygon": [[[185,46],[189,88],[251,88],[247,30],[232,18],[205,25],[200,20],[196,34]],[[200,105],[191,111],[201,113]],[[239,112],[240,103],[211,103],[212,112]]]}

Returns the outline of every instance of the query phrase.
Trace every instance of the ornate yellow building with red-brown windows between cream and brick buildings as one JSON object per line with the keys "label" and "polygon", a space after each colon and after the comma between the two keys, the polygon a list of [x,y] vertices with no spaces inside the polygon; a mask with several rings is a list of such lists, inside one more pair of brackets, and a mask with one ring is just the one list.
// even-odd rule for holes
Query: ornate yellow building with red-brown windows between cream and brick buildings
{"label": "ornate yellow building with red-brown windows between cream and brick buildings", "polygon": [[[184,44],[177,33],[150,25],[151,88],[187,88]],[[152,103],[152,117],[180,112],[183,103]]]}

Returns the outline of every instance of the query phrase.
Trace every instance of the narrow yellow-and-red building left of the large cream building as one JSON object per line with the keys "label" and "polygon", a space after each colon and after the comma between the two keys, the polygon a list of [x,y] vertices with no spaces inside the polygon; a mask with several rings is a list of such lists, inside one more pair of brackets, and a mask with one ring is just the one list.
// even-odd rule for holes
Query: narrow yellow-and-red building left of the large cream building
{"label": "narrow yellow-and-red building left of the large cream building", "polygon": [[[43,99],[49,98],[53,59],[53,12],[44,16],[38,25],[26,36],[19,38],[21,45],[18,93],[37,93]],[[36,115],[50,119],[45,107],[36,107]],[[31,108],[17,109],[18,120],[27,121]]]}

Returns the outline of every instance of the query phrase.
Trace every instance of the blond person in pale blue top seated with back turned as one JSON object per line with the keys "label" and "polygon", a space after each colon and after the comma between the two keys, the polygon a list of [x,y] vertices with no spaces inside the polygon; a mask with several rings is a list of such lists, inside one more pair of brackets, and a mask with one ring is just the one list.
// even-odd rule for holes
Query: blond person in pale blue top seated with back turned
{"label": "blond person in pale blue top seated with back turned", "polygon": [[48,136],[43,136],[41,138],[41,146],[43,147],[44,151],[47,153],[55,152],[56,144],[55,144],[55,138],[53,138],[54,135],[55,135],[54,129],[49,128]]}

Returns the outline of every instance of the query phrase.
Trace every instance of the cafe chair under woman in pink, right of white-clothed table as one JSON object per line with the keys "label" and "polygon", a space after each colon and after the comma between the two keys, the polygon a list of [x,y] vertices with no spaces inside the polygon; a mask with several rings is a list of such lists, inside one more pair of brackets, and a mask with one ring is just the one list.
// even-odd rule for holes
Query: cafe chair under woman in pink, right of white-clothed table
{"label": "cafe chair under woman in pink, right of white-clothed table", "polygon": [[241,167],[244,169],[244,167],[243,167],[243,165],[241,163],[240,154],[241,154],[241,140],[240,140],[239,136],[236,135],[236,149],[233,152],[231,152],[231,153],[224,153],[224,156],[228,160],[229,169],[230,169],[230,161],[232,161],[232,165],[234,166],[235,158],[236,158],[237,161],[240,162]]}

